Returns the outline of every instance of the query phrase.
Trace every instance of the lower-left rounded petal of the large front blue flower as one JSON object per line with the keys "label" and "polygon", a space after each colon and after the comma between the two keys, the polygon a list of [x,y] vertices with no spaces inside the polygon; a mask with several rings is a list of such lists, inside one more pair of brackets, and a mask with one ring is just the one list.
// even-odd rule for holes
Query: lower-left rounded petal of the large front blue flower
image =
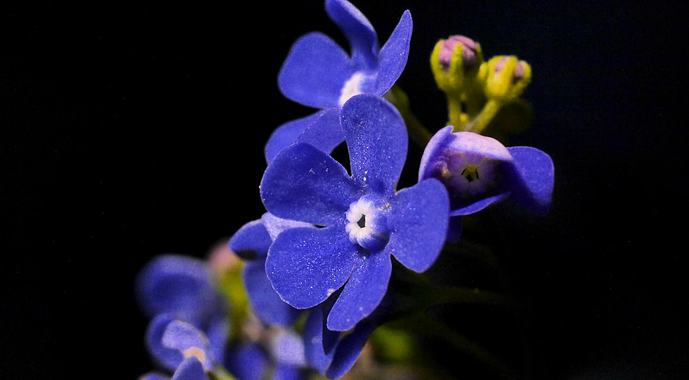
{"label": "lower-left rounded petal of the large front blue flower", "polygon": [[283,301],[311,308],[347,281],[356,255],[343,228],[292,228],[271,246],[266,274]]}

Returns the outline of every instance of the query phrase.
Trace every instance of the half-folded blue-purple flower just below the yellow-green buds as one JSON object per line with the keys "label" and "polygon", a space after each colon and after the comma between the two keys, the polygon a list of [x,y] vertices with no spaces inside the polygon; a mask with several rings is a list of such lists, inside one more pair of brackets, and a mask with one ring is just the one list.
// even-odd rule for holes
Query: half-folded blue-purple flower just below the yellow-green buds
{"label": "half-folded blue-purple flower just below the yellow-green buds", "polygon": [[473,214],[512,197],[537,214],[551,205],[555,170],[545,152],[527,146],[505,148],[472,132],[438,131],[424,150],[419,180],[437,178],[450,194],[450,232],[461,230],[458,216]]}

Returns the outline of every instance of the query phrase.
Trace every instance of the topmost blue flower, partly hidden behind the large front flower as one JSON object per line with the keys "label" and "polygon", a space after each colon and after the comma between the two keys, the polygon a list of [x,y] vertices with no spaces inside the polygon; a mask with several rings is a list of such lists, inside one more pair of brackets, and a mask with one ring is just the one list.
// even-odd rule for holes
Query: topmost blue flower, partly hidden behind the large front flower
{"label": "topmost blue flower, partly hidden behind the large front flower", "polygon": [[294,102],[322,111],[278,127],[265,148],[267,162],[298,139],[331,152],[344,139],[338,122],[342,104],[357,94],[383,95],[406,65],[412,29],[409,10],[379,49],[373,26],[351,3],[326,0],[325,7],[349,41],[351,56],[318,32],[294,42],[278,74],[280,91]]}

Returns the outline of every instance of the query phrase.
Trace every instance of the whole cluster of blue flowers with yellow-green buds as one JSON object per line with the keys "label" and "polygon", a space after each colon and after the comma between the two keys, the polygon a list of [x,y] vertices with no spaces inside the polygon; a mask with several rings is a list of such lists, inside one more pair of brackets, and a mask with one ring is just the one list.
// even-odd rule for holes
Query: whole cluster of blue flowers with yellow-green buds
{"label": "whole cluster of blue flowers with yellow-green buds", "polygon": [[[287,54],[280,91],[318,111],[267,141],[266,212],[209,260],[163,255],[138,276],[139,303],[152,319],[147,347],[173,379],[342,377],[381,324],[429,304],[393,280],[422,276],[460,239],[462,216],[507,198],[537,214],[550,206],[550,157],[477,133],[519,101],[527,63],[484,62],[480,44],[461,35],[439,41],[431,69],[454,124],[432,137],[423,129],[418,182],[399,188],[408,129],[423,128],[395,86],[411,14],[379,47],[351,3],[326,0],[325,8],[351,54],[317,32]],[[331,156],[343,142],[346,166]]]}

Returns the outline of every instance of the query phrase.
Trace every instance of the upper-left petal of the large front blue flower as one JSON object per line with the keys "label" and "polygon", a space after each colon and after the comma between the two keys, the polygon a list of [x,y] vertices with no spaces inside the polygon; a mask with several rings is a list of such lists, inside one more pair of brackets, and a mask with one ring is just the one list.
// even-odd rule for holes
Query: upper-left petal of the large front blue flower
{"label": "upper-left petal of the large front blue flower", "polygon": [[308,144],[280,152],[263,174],[260,190],[271,214],[317,225],[341,221],[359,191],[338,161]]}

